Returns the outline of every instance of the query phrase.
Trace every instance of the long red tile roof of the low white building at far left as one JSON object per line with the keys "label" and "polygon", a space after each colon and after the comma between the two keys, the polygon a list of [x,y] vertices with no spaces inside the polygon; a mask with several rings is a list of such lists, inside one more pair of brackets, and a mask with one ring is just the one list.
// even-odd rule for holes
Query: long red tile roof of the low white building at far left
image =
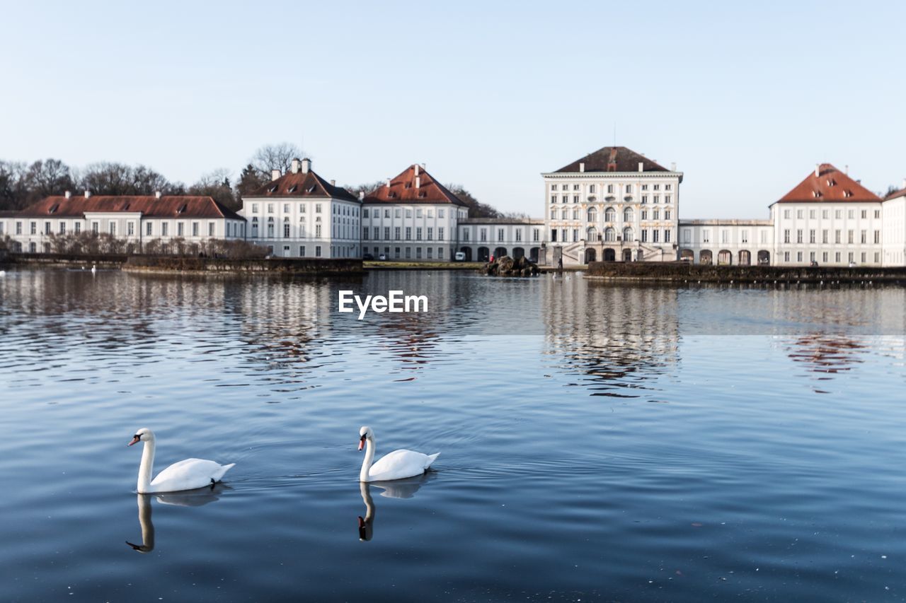
{"label": "long red tile roof of the low white building at far left", "polygon": [[25,207],[24,217],[83,217],[85,212],[141,212],[144,217],[198,217],[244,220],[209,196],[125,195],[48,196]]}

